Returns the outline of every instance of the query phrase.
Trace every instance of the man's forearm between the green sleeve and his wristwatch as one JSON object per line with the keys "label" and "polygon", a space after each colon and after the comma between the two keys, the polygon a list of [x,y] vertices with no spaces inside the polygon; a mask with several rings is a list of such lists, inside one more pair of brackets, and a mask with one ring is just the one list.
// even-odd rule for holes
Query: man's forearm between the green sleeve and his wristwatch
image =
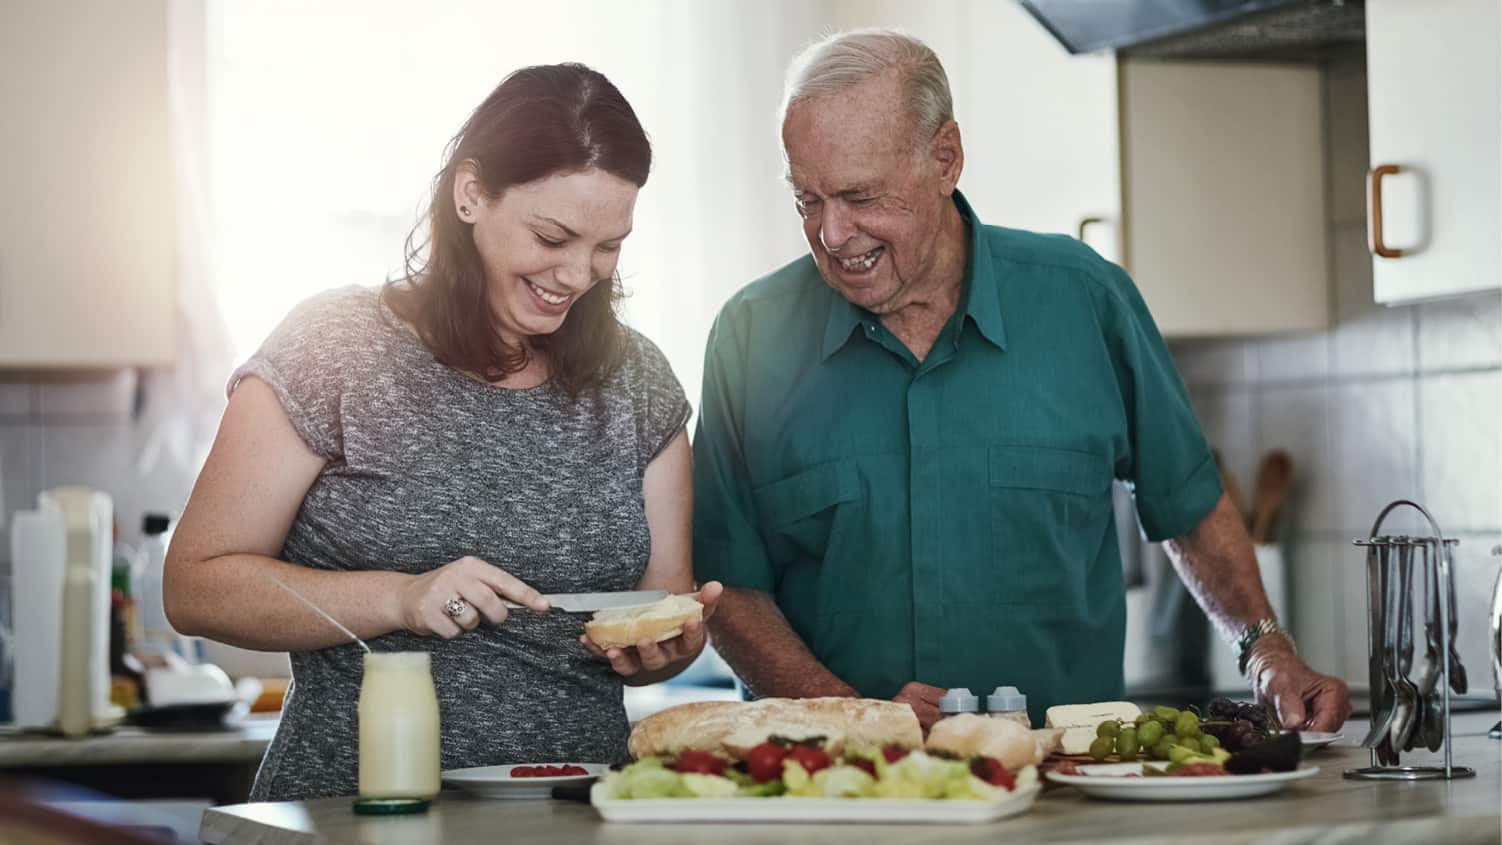
{"label": "man's forearm between the green sleeve and his wristwatch", "polygon": [[1257,620],[1274,618],[1247,527],[1226,495],[1193,531],[1164,542],[1163,548],[1227,641],[1235,641]]}

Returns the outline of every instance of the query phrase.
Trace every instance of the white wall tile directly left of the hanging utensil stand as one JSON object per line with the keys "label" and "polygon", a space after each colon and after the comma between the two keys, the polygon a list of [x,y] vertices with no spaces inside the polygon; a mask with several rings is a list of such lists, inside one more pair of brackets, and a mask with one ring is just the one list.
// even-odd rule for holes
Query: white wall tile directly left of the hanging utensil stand
{"label": "white wall tile directly left of the hanging utensil stand", "polygon": [[1286,560],[1287,621],[1299,653],[1314,669],[1340,674],[1347,647],[1341,581],[1359,573],[1352,546],[1329,540],[1289,543]]}

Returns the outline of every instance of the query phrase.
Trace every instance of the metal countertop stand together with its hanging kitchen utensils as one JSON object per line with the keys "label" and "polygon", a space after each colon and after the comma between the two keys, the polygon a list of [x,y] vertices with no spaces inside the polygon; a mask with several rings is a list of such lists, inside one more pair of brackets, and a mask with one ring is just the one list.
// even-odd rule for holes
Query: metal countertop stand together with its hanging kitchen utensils
{"label": "metal countertop stand together with its hanging kitchen utensils", "polygon": [[[1383,534],[1383,521],[1400,507],[1422,513],[1433,534]],[[1347,779],[1452,780],[1476,776],[1473,768],[1454,765],[1451,758],[1451,692],[1466,692],[1466,669],[1455,653],[1454,548],[1458,542],[1445,537],[1434,516],[1409,500],[1383,507],[1371,524],[1371,534],[1355,540],[1365,549],[1367,564],[1371,729],[1361,744],[1371,749],[1371,765],[1347,768]],[[1415,597],[1421,599],[1425,639],[1419,683],[1409,677],[1416,636]],[[1398,765],[1398,755],[1415,747],[1443,747],[1443,767]]]}

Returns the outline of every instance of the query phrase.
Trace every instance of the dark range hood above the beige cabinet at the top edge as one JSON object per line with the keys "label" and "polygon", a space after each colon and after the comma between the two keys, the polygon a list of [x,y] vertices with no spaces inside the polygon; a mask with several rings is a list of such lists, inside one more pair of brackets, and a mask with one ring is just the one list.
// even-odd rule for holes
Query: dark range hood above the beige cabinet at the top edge
{"label": "dark range hood above the beige cabinet at the top edge", "polygon": [[1364,0],[1021,0],[1069,53],[1319,60],[1365,41]]}

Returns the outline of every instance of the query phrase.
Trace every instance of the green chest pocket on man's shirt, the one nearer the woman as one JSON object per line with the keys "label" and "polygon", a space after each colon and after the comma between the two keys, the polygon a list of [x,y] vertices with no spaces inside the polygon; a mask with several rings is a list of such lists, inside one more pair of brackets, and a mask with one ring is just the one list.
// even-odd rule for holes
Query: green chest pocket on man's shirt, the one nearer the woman
{"label": "green chest pocket on man's shirt, the one nearer the woman", "polygon": [[834,461],[753,491],[774,561],[822,561],[831,540],[850,530],[861,501],[861,476],[852,461]]}

